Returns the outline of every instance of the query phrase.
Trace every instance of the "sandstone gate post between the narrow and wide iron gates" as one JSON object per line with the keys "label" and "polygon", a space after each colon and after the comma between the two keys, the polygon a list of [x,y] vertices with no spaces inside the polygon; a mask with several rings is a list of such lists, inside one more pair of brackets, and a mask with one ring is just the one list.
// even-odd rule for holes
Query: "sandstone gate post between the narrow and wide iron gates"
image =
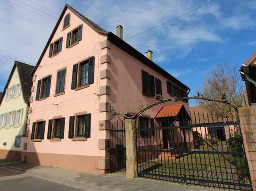
{"label": "sandstone gate post between the narrow and wide iron gates", "polygon": [[135,120],[125,119],[126,178],[138,178]]}

